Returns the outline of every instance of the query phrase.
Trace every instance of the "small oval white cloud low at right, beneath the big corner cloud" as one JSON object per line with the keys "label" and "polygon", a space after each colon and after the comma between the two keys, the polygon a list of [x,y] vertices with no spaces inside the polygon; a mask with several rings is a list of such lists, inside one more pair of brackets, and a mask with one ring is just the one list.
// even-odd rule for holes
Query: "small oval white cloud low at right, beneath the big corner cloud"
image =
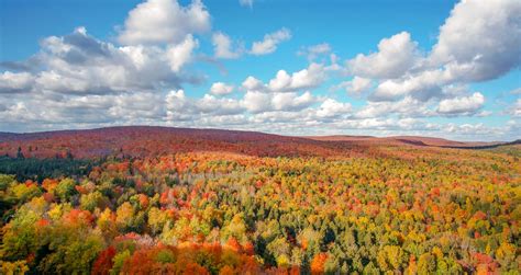
{"label": "small oval white cloud low at right, beneath the big corner cloud", "polygon": [[461,96],[454,99],[442,100],[437,107],[440,114],[475,114],[485,104],[485,96],[475,92],[469,96]]}

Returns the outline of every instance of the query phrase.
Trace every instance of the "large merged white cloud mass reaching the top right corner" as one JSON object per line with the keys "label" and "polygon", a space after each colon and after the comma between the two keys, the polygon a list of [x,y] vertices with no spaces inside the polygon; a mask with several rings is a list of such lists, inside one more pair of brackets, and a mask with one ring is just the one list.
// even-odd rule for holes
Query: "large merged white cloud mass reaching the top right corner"
{"label": "large merged white cloud mass reaching the top right corner", "polygon": [[[441,26],[429,55],[419,57],[415,43],[401,33],[381,41],[378,53],[358,55],[347,64],[352,72],[381,80],[372,101],[443,98],[446,85],[495,79],[520,67],[520,11],[514,0],[462,1]],[[385,55],[393,50],[396,56]]]}

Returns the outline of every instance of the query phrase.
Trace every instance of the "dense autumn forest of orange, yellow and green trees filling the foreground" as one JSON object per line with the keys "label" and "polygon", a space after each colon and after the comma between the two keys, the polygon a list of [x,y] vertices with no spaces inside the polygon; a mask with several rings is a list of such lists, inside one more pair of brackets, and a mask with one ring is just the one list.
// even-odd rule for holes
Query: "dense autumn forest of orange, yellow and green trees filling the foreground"
{"label": "dense autumn forest of orange, yellow and green trees filling the foreground", "polygon": [[520,274],[520,145],[78,139],[0,142],[1,274]]}

